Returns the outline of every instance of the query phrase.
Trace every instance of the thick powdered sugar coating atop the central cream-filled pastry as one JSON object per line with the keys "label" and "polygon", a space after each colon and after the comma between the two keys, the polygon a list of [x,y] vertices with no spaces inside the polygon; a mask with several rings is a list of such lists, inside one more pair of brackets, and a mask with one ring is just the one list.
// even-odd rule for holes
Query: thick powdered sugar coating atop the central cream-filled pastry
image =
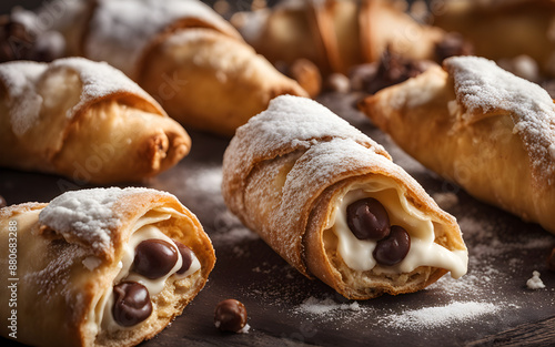
{"label": "thick powdered sugar coating atop the central cream-filled pastry", "polygon": [[[381,145],[327,108],[311,99],[280,95],[270,102],[268,110],[238,129],[223,159],[223,172],[228,173],[223,186],[242,184],[253,161],[306,150],[329,139],[351,139],[389,157]],[[230,198],[241,206],[238,196]]]}

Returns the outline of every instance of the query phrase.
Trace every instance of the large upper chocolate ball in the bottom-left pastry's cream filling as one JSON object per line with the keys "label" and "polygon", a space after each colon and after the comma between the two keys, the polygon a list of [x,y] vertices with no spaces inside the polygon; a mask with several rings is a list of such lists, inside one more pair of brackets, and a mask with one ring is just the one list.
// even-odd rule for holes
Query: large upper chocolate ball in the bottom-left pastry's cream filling
{"label": "large upper chocolate ball in the bottom-left pastry's cream filling", "polygon": [[150,279],[160,278],[175,266],[178,251],[163,239],[151,238],[135,247],[133,271]]}

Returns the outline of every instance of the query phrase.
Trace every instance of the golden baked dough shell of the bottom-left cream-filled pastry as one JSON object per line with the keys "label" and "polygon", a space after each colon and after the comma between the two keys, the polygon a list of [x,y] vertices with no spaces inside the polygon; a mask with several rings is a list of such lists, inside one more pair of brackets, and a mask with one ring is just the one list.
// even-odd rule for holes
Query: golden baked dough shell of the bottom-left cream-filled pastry
{"label": "golden baked dough shell of the bottom-left cream-filled pastry", "polygon": [[[138,191],[118,198],[112,211],[120,220],[112,229],[113,248],[107,252],[94,249],[94,244],[87,245],[83,239],[50,234],[38,221],[40,211],[28,211],[26,206],[10,206],[0,214],[2,232],[13,223],[19,227],[18,341],[41,346],[137,345],[153,337],[182,313],[202,289],[214,265],[213,248],[202,226],[169,194]],[[149,212],[154,212],[158,217],[151,218]],[[160,214],[163,216],[160,217]],[[168,214],[171,214],[169,218]],[[125,245],[137,232],[134,223],[144,223],[141,221],[186,244],[194,252],[201,269],[186,277],[164,278],[163,288],[151,296],[153,310],[147,319],[131,327],[108,331],[99,319],[105,316],[107,296],[117,284],[117,276],[121,276],[121,262],[125,263],[122,259],[128,252]],[[2,233],[2,236],[7,234]],[[33,261],[36,254],[43,256]],[[2,277],[8,275],[4,271],[7,267],[1,269]],[[118,280],[125,278],[123,276]],[[145,283],[150,286],[148,280]],[[10,337],[4,328],[1,333]]]}

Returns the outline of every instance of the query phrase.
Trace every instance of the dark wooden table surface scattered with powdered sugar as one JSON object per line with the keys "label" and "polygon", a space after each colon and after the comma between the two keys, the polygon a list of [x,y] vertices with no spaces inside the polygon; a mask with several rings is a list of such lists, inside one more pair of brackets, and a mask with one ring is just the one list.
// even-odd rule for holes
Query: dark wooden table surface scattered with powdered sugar
{"label": "dark wooden table surface scattered with powdered sugar", "polygon": [[[547,269],[546,258],[555,236],[474,200],[424,169],[352,109],[353,95],[325,94],[320,101],[382,143],[394,162],[456,216],[468,246],[467,275],[458,280],[446,275],[408,295],[342,298],[299,274],[228,212],[220,191],[228,140],[190,132],[193,147],[188,157],[149,182],[131,185],[176,195],[200,218],[218,261],[208,285],[183,315],[142,346],[554,346],[555,273]],[[88,186],[0,169],[0,194],[10,204],[48,202],[81,187]],[[526,287],[534,271],[546,288]],[[214,328],[215,305],[225,298],[246,306],[248,334]]]}

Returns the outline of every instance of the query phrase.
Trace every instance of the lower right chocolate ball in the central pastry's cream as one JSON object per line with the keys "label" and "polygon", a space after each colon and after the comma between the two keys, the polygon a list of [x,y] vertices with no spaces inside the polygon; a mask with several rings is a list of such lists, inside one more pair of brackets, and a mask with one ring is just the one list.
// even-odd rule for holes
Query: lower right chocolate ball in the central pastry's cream
{"label": "lower right chocolate ball in the central pastry's cream", "polygon": [[392,225],[390,235],[377,242],[374,259],[380,265],[393,266],[405,258],[411,249],[408,233],[398,225]]}

